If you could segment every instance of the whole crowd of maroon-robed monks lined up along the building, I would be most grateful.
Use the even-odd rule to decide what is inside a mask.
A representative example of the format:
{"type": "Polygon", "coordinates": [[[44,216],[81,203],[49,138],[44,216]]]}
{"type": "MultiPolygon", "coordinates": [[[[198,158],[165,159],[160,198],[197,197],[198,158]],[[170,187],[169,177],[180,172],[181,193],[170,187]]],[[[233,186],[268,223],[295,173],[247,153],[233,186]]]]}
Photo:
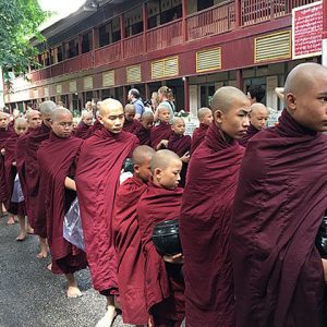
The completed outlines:
{"type": "Polygon", "coordinates": [[[124,108],[89,106],[77,126],[52,101],[12,121],[0,112],[0,208],[8,223],[19,218],[17,241],[34,233],[37,257],[50,251],[69,298],[89,268],[107,299],[97,327],[120,311],[136,326],[326,326],[315,240],[327,208],[327,69],[289,73],[274,128],[263,96],[220,87],[192,137],[166,86],[148,108],[137,89],[124,108]],[[63,237],[76,198],[83,246],[63,237]],[[181,251],[160,253],[154,228],[173,220],[181,251]]]}

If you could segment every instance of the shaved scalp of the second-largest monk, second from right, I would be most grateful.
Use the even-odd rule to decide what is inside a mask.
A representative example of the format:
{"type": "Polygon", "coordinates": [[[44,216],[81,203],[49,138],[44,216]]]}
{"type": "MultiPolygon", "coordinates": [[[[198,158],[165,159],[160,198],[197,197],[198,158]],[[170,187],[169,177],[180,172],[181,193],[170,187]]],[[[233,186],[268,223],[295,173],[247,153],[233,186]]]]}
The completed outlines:
{"type": "Polygon", "coordinates": [[[235,101],[242,102],[246,100],[247,97],[241,89],[233,86],[220,87],[216,90],[213,97],[213,113],[215,113],[217,110],[227,112],[234,106],[235,101]]]}

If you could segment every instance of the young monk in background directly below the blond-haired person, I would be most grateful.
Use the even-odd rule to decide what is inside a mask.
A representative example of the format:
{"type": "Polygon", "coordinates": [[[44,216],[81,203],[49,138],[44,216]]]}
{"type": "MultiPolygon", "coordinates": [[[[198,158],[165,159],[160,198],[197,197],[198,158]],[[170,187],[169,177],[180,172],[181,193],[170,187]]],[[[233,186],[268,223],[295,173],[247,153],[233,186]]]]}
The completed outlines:
{"type": "Polygon", "coordinates": [[[157,111],[160,123],[153,128],[150,133],[152,147],[156,150],[165,148],[167,146],[168,138],[172,134],[169,109],[166,106],[159,105],[157,111]]]}

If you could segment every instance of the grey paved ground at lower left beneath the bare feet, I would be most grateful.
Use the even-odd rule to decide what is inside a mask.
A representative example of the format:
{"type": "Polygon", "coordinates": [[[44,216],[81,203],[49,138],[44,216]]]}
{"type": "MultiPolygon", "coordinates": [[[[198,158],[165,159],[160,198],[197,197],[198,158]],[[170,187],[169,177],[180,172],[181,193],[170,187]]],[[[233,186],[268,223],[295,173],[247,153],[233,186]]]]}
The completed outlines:
{"type": "MultiPolygon", "coordinates": [[[[83,296],[65,298],[64,278],[38,261],[36,237],[16,242],[19,227],[0,219],[0,327],[94,327],[105,313],[106,301],[90,284],[88,270],[77,275],[83,296]]],[[[123,325],[121,316],[114,322],[123,325]]]]}

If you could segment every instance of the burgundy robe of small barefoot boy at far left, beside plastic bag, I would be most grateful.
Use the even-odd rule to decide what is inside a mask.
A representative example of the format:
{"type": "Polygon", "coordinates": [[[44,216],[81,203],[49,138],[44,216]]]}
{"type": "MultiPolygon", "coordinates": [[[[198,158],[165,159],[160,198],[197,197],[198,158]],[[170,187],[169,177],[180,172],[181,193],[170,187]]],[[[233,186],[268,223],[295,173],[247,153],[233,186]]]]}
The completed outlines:
{"type": "Polygon", "coordinates": [[[16,166],[13,166],[12,164],[16,161],[15,149],[16,149],[16,142],[19,137],[20,136],[16,133],[14,133],[4,143],[4,149],[5,149],[4,171],[5,171],[5,183],[8,187],[8,198],[4,203],[4,206],[8,213],[10,214],[25,216],[26,215],[25,202],[24,201],[20,203],[11,202],[11,197],[14,189],[14,181],[17,174],[16,166]]]}

